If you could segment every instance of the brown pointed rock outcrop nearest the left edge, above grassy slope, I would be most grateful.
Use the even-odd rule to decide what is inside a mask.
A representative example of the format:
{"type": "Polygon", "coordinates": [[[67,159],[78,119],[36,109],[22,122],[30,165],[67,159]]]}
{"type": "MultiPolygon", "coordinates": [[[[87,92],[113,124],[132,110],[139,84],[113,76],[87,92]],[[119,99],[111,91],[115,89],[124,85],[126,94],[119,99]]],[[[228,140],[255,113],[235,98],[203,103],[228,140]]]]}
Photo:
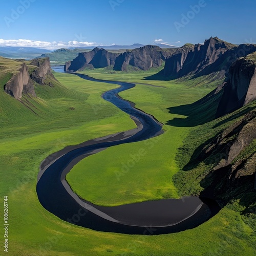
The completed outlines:
{"type": "Polygon", "coordinates": [[[28,66],[23,63],[17,73],[14,73],[12,78],[6,83],[4,90],[6,93],[19,99],[22,93],[30,93],[36,97],[33,82],[29,77],[28,66]]]}

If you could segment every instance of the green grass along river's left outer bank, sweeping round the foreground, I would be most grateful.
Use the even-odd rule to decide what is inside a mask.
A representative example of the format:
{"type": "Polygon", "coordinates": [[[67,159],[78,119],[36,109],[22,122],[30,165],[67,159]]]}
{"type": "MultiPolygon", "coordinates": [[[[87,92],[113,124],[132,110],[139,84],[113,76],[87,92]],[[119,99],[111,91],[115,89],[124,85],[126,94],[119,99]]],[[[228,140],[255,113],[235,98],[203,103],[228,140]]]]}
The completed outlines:
{"type": "MultiPolygon", "coordinates": [[[[114,133],[123,127],[127,130],[134,126],[131,120],[119,111],[115,112],[114,106],[102,102],[99,97],[99,91],[105,90],[106,86],[108,90],[114,86],[87,82],[90,87],[85,88],[84,81],[72,75],[57,74],[56,77],[65,86],[78,91],[78,98],[84,96],[84,102],[75,100],[73,97],[69,98],[68,95],[62,99],[56,99],[57,102],[49,96],[43,101],[45,105],[40,104],[42,109],[39,117],[30,115],[30,118],[23,121],[22,117],[29,116],[30,110],[22,108],[18,105],[19,102],[14,101],[10,96],[0,94],[3,97],[9,97],[6,98],[9,108],[7,105],[3,107],[1,104],[1,113],[7,115],[8,110],[12,110],[13,118],[19,118],[18,125],[15,119],[8,124],[1,124],[4,128],[1,129],[1,138],[5,141],[1,140],[0,170],[4,182],[2,182],[0,191],[2,197],[9,196],[10,255],[253,254],[255,240],[252,237],[252,230],[244,224],[237,212],[227,208],[222,209],[220,214],[198,228],[157,237],[103,233],[76,227],[60,221],[42,208],[35,193],[36,174],[42,159],[67,144],[79,143],[93,137],[114,133]],[[71,101],[69,102],[69,100],[71,101]],[[75,103],[75,110],[69,110],[70,106],[74,106],[75,103]],[[97,113],[101,113],[102,106],[103,110],[112,109],[95,115],[93,111],[95,104],[97,113]],[[54,111],[48,114],[46,110],[50,111],[52,108],[54,111]],[[16,116],[14,116],[15,112],[16,116]],[[77,113],[73,114],[73,112],[77,113]],[[106,113],[109,114],[109,117],[101,116],[106,113]],[[67,118],[69,122],[66,121],[67,118]],[[123,124],[123,126],[120,127],[118,124],[123,124]],[[6,136],[10,136],[10,138],[6,138],[6,136]],[[12,143],[11,146],[9,143],[12,143]]],[[[125,78],[127,77],[123,77],[123,79],[125,78]]],[[[134,80],[136,79],[138,77],[134,78],[134,80]]],[[[156,83],[162,84],[161,82],[156,83]]],[[[144,87],[137,87],[137,89],[143,92],[147,90],[147,95],[152,96],[151,89],[144,87]]],[[[69,92],[71,93],[71,91],[69,92]]],[[[136,97],[136,95],[132,95],[133,93],[136,93],[136,90],[127,92],[126,96],[136,97]]],[[[200,92],[199,95],[201,93],[204,94],[200,92]]],[[[39,95],[38,91],[37,94],[39,95]]],[[[123,97],[125,94],[123,93],[123,97]]],[[[145,111],[154,110],[148,103],[144,102],[144,106],[140,105],[141,98],[138,96],[133,100],[145,111]]],[[[176,104],[178,105],[180,102],[178,101],[176,104]]],[[[165,110],[156,112],[158,112],[158,114],[156,113],[157,118],[165,115],[166,118],[168,115],[165,110]],[[163,113],[165,114],[163,115],[163,113]]],[[[2,209],[0,213],[3,214],[2,209]]]]}

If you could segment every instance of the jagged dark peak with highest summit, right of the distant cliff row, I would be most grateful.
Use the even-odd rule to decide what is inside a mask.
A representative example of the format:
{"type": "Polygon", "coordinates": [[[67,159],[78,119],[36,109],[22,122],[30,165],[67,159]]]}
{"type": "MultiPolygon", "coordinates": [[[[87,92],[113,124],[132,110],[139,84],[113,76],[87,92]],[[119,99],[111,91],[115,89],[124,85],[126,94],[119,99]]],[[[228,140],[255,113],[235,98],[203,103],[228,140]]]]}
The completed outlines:
{"type": "Polygon", "coordinates": [[[196,74],[214,63],[227,50],[234,47],[218,37],[210,37],[203,45],[185,45],[166,58],[164,75],[173,78],[196,74]]]}

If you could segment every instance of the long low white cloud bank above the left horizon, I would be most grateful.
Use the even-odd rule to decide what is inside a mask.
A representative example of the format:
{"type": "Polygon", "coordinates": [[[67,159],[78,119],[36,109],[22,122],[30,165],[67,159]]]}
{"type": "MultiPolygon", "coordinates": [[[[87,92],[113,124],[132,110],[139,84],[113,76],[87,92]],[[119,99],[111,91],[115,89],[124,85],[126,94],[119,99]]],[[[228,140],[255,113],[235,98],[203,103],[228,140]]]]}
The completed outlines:
{"type": "Polygon", "coordinates": [[[69,47],[81,47],[81,46],[98,46],[96,42],[79,42],[79,41],[36,41],[28,39],[0,39],[0,46],[12,46],[12,47],[35,47],[48,50],[55,50],[58,48],[69,48],[69,47]]]}

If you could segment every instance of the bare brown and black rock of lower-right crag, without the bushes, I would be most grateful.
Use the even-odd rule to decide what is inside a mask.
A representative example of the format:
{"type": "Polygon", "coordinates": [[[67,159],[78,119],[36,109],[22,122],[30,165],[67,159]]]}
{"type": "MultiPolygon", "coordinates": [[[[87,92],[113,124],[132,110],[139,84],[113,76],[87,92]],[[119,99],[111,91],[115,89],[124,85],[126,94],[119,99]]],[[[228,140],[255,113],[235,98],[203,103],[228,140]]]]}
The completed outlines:
{"type": "Polygon", "coordinates": [[[230,200],[256,190],[255,139],[256,111],[252,110],[204,147],[201,160],[214,166],[203,182],[211,181],[206,193],[214,191],[215,196],[230,200]]]}

